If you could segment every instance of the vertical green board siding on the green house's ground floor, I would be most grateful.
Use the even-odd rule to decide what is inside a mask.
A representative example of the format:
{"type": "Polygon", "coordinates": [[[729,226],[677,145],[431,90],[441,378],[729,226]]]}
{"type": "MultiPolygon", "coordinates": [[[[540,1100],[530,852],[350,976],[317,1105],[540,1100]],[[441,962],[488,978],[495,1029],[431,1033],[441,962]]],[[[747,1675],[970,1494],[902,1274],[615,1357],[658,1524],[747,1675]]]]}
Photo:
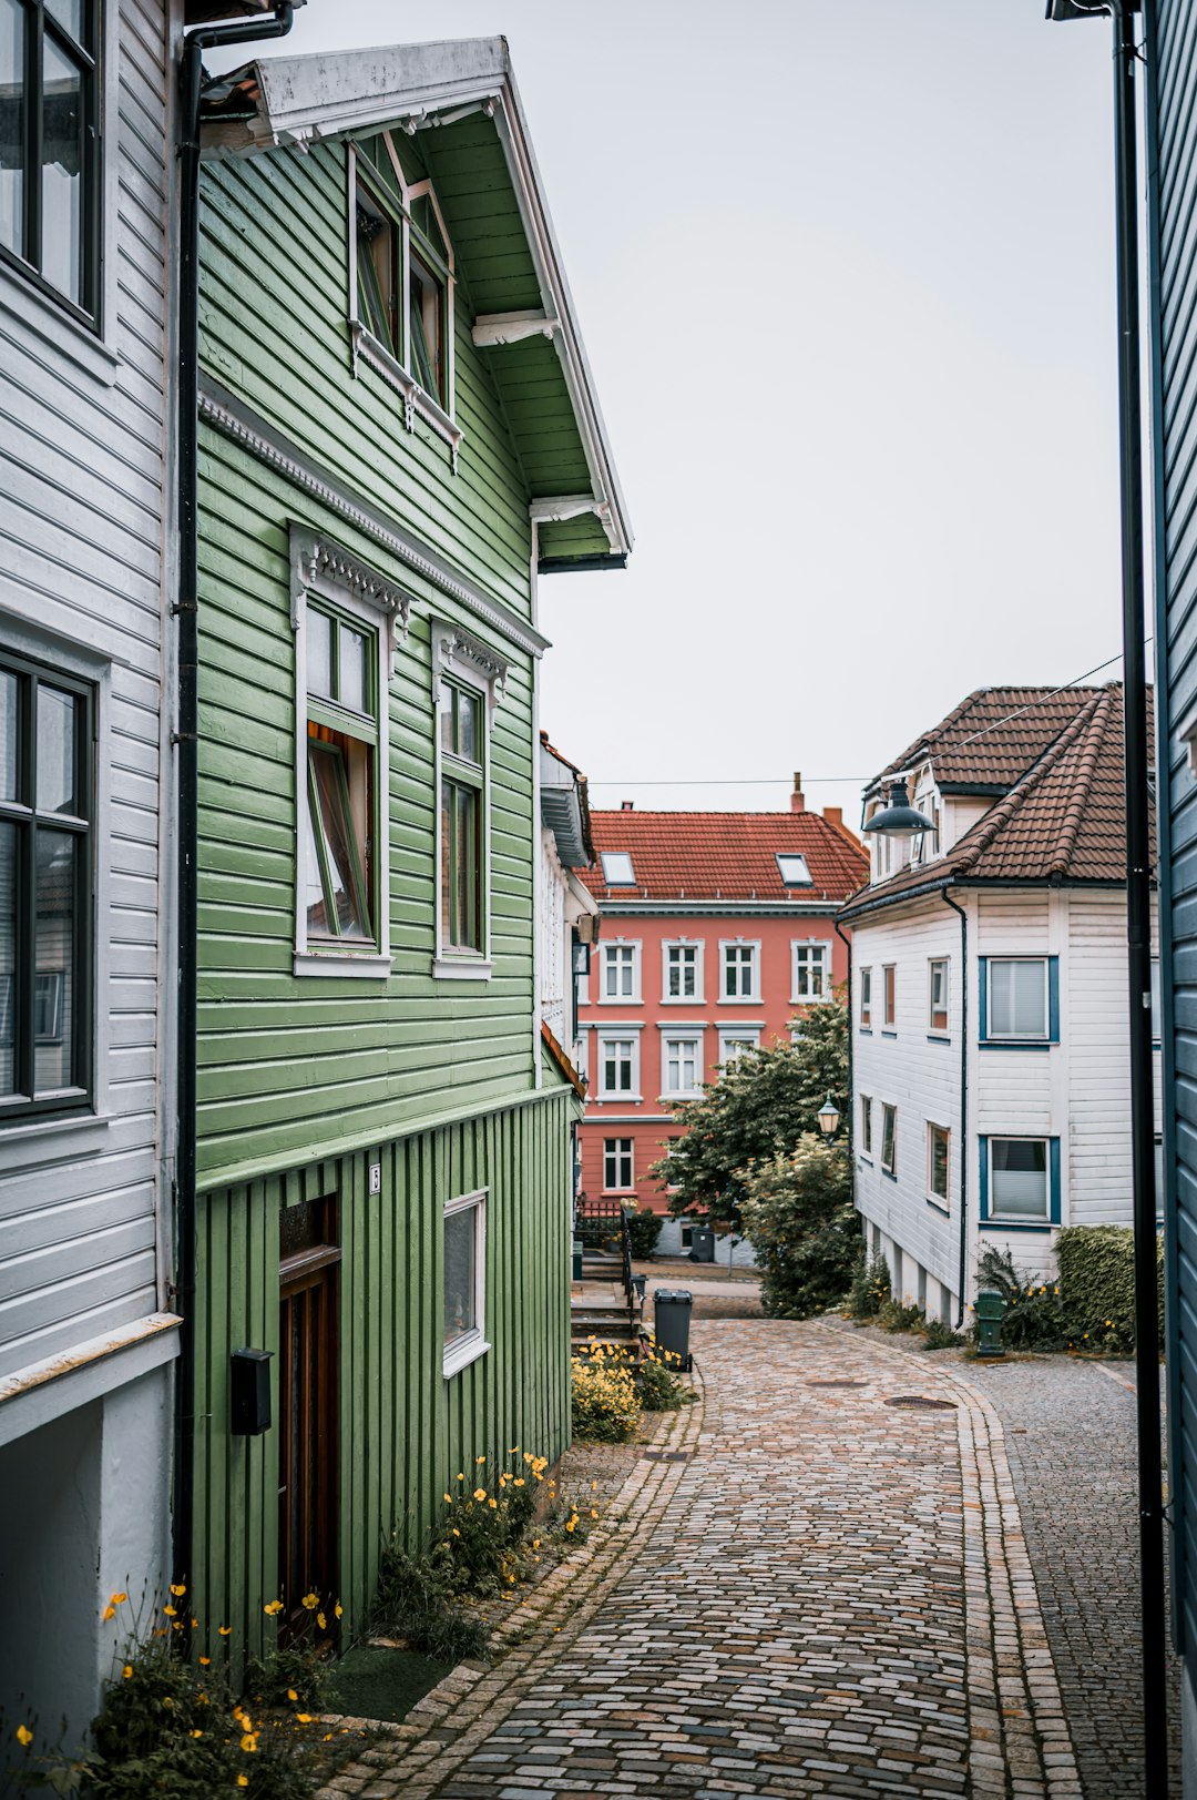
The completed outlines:
{"type": "Polygon", "coordinates": [[[473,1458],[569,1442],[571,1224],[567,1089],[437,1132],[209,1193],[200,1202],[194,1598],[261,1649],[277,1593],[279,1213],[340,1201],[338,1595],[360,1631],[394,1525],[419,1544],[473,1458]],[[382,1165],[371,1195],[369,1165],[382,1165]],[[488,1190],[490,1352],[441,1375],[441,1213],[488,1190]],[[229,1357],[272,1350],[275,1429],[230,1436],[229,1357]]]}

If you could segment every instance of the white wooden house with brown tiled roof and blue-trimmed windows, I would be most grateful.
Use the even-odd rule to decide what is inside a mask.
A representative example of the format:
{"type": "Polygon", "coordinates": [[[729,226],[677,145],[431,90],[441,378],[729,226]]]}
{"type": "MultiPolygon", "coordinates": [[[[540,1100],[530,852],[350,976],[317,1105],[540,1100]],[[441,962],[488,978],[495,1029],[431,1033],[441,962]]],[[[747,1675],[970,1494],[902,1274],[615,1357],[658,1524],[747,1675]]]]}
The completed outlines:
{"type": "Polygon", "coordinates": [[[1048,1278],[1130,1222],[1121,689],[986,688],[866,790],[851,925],[855,1197],[895,1296],[959,1323],[983,1246],[1048,1278]]]}

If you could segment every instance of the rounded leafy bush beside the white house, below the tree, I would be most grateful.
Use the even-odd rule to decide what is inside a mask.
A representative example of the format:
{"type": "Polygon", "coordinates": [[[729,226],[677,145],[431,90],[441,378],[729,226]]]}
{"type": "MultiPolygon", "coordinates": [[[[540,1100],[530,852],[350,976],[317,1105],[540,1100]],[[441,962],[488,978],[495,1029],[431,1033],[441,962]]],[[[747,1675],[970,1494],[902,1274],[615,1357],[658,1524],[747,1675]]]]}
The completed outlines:
{"type": "Polygon", "coordinates": [[[810,1319],[848,1292],[860,1251],[846,1145],[805,1132],[796,1148],[745,1172],[743,1228],[774,1319],[810,1319]]]}

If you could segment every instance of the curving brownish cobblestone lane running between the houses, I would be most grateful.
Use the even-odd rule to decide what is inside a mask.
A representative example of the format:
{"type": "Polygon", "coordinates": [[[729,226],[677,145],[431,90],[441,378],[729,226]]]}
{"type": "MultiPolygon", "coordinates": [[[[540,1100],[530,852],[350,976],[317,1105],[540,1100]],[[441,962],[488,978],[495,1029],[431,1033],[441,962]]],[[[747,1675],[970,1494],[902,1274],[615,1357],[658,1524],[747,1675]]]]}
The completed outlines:
{"type": "Polygon", "coordinates": [[[328,1793],[1078,1800],[988,1404],[823,1325],[698,1321],[695,1352],[702,1413],[513,1609],[495,1665],[328,1793]]]}

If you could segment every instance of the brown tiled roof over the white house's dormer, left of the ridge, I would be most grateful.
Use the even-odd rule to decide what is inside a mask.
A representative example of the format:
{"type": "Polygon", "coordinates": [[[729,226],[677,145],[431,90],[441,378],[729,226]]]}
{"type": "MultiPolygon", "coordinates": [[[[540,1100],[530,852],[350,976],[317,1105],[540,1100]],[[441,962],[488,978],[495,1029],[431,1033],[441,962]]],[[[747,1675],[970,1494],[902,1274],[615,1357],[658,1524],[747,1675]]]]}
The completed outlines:
{"type": "Polygon", "coordinates": [[[866,788],[931,761],[941,794],[1001,794],[1026,774],[1102,688],[977,688],[914,738],[866,788]]]}

